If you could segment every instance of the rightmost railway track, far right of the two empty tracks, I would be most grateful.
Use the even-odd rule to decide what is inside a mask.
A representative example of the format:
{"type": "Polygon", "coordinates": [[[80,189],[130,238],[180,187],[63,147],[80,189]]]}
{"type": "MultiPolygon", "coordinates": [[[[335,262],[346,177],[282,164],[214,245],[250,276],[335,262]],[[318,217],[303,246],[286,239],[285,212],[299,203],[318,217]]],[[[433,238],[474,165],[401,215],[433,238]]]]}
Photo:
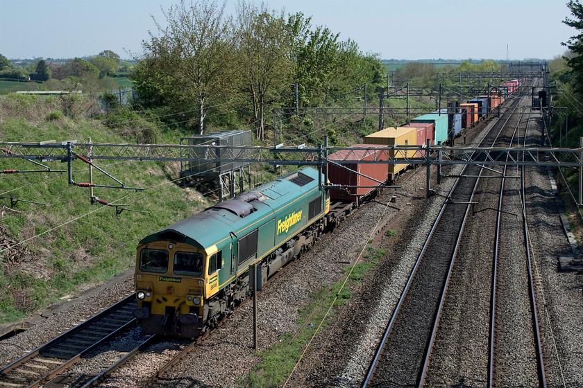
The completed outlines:
{"type": "MultiPolygon", "coordinates": [[[[528,118],[530,115],[525,125],[523,146],[527,141],[528,118]]],[[[518,125],[516,133],[519,133],[518,125]]],[[[507,175],[507,167],[504,168],[503,175],[507,175]]],[[[502,178],[495,247],[487,385],[502,387],[518,384],[546,387],[526,217],[523,166],[520,168],[520,182],[508,184],[506,179],[502,178]],[[514,193],[519,195],[512,195],[514,193]],[[509,218],[509,214],[513,212],[517,213],[515,219],[509,218]],[[517,255],[515,249],[509,254],[507,252],[509,249],[505,247],[512,243],[516,245],[520,243],[523,252],[517,255]],[[517,301],[519,303],[516,303],[517,301]],[[514,344],[515,349],[508,351],[505,346],[507,343],[514,344]],[[518,349],[519,347],[522,349],[518,349]],[[508,360],[512,360],[513,364],[518,362],[521,367],[509,368],[508,360]]]]}

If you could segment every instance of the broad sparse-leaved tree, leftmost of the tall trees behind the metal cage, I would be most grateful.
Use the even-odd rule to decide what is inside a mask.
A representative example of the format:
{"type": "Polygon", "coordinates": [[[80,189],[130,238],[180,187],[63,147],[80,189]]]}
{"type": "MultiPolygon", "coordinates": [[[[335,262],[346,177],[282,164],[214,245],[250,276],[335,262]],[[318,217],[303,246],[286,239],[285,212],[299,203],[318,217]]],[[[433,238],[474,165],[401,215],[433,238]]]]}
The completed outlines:
{"type": "Polygon", "coordinates": [[[162,10],[168,26],[162,28],[154,19],[159,35],[150,32],[150,40],[142,43],[144,58],[137,58],[142,86],[157,84],[149,89],[164,92],[163,98],[179,111],[196,109],[199,134],[210,103],[226,98],[232,88],[233,47],[228,21],[223,19],[225,6],[214,0],[181,0],[162,10]],[[143,76],[151,78],[146,82],[143,76]]]}

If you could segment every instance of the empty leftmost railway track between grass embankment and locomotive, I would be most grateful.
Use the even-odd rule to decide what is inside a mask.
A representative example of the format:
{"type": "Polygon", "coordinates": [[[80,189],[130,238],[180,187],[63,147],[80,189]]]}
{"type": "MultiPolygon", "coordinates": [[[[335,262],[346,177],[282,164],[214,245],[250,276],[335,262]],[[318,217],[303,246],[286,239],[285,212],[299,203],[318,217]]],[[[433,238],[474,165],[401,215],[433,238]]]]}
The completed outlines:
{"type": "MultiPolygon", "coordinates": [[[[135,296],[122,299],[0,369],[0,387],[40,387],[135,323],[135,296]]],[[[55,385],[53,385],[55,386],[55,385]]]]}

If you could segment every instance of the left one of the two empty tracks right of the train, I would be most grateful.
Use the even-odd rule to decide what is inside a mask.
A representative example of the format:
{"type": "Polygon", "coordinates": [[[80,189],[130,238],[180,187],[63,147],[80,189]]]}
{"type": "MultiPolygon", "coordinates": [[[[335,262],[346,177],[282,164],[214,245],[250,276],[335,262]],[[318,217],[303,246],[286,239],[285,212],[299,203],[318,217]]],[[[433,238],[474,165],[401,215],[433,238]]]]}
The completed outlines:
{"type": "MultiPolygon", "coordinates": [[[[493,145],[509,118],[506,114],[505,121],[494,125],[481,144],[493,145]]],[[[465,178],[458,178],[448,194],[363,387],[423,385],[445,290],[481,170],[478,166],[466,166],[462,171],[465,178]]]]}

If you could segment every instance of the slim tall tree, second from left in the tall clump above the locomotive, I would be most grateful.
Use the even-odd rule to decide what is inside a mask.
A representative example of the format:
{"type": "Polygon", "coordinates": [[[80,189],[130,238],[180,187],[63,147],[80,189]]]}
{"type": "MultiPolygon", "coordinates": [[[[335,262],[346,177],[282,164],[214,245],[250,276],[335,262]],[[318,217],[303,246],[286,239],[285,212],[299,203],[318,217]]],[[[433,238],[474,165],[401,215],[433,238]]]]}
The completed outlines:
{"type": "Polygon", "coordinates": [[[244,89],[253,101],[257,139],[264,139],[265,113],[270,93],[290,82],[293,64],[291,45],[283,12],[276,14],[264,4],[252,8],[237,4],[237,48],[242,65],[244,89]]]}

